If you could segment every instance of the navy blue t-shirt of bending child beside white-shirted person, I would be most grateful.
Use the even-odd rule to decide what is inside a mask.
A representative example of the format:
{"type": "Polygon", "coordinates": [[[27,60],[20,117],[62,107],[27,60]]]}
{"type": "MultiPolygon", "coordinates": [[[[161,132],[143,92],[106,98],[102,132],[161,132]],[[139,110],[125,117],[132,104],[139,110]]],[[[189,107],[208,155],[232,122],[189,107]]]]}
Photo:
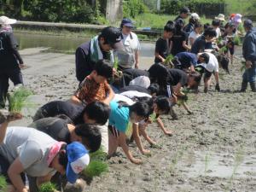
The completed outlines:
{"type": "Polygon", "coordinates": [[[188,68],[191,66],[191,64],[193,66],[196,66],[197,64],[197,56],[194,53],[180,52],[175,56],[182,63],[183,68],[188,68]]]}

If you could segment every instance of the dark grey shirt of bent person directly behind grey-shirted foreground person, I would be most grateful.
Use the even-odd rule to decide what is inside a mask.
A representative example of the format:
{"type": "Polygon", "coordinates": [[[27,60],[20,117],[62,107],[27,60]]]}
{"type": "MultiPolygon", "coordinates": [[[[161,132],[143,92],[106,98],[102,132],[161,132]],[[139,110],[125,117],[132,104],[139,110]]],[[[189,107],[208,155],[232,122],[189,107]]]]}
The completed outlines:
{"type": "Polygon", "coordinates": [[[67,121],[60,118],[44,118],[32,122],[28,127],[42,131],[53,137],[56,141],[70,143],[70,132],[67,128],[67,121]]]}

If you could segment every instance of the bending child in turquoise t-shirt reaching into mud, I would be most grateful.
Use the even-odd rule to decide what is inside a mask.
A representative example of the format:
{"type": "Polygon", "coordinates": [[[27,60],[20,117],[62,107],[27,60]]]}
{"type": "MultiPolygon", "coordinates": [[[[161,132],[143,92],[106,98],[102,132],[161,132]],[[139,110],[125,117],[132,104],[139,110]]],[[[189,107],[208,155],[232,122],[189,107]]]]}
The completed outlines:
{"type": "Polygon", "coordinates": [[[148,118],[151,108],[143,102],[136,102],[131,106],[123,105],[118,102],[110,102],[111,113],[109,116],[109,147],[108,155],[111,157],[118,146],[123,148],[126,157],[132,163],[141,164],[142,160],[132,156],[127,144],[125,132],[129,129],[131,123],[137,123],[148,118]]]}

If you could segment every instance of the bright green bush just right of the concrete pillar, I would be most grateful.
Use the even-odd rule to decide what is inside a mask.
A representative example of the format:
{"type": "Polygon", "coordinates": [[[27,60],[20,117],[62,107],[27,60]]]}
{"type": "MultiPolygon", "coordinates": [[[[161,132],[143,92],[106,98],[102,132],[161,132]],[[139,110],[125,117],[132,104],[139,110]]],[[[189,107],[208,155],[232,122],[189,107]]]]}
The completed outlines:
{"type": "Polygon", "coordinates": [[[143,3],[143,0],[124,0],[123,2],[123,15],[124,17],[135,18],[148,12],[148,7],[143,3]]]}

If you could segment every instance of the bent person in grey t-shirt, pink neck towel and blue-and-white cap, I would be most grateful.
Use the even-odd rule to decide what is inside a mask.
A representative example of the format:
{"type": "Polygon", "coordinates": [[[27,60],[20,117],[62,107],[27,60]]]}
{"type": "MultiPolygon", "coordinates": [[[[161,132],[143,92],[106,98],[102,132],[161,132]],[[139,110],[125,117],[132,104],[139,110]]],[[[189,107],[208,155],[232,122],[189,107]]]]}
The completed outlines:
{"type": "Polygon", "coordinates": [[[38,177],[38,186],[48,182],[55,171],[62,175],[66,173],[67,181],[75,183],[79,172],[89,164],[88,149],[78,142],[55,141],[32,128],[8,127],[10,121],[21,117],[15,113],[6,119],[0,118],[3,119],[0,122],[0,174],[9,177],[9,191],[29,191],[24,173],[38,177]]]}

